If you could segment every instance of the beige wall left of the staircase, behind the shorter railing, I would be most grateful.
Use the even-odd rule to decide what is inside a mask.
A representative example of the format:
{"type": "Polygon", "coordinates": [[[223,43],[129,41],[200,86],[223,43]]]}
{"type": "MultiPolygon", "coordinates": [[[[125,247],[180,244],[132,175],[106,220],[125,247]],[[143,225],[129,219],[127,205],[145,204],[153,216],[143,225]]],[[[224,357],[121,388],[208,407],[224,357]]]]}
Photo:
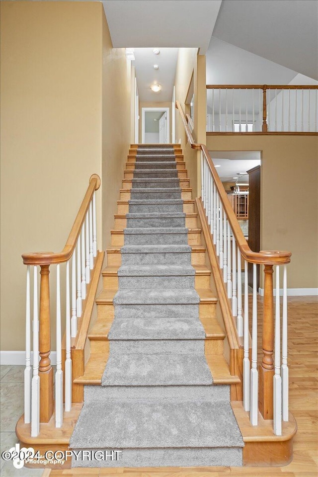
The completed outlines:
{"type": "MultiPolygon", "coordinates": [[[[129,111],[130,77],[124,52],[111,50],[100,2],[1,1],[0,7],[1,349],[23,350],[21,253],[63,248],[92,173],[103,180],[99,223],[101,199],[111,197],[98,246],[109,242],[117,168],[130,139],[129,115],[128,125],[121,117],[129,111]],[[105,90],[109,102],[102,101],[105,90]]],[[[52,270],[52,299],[54,288],[52,270]]]]}

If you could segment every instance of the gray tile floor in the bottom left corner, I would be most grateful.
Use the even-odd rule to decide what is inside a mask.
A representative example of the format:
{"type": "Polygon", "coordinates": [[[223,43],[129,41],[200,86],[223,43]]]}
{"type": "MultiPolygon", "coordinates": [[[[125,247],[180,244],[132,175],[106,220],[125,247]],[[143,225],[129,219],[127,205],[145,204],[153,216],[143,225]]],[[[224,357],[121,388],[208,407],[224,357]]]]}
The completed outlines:
{"type": "MultiPolygon", "coordinates": [[[[0,454],[17,443],[15,424],[23,413],[24,366],[0,366],[0,454]]],[[[43,469],[15,469],[1,458],[1,477],[38,477],[43,469]]]]}

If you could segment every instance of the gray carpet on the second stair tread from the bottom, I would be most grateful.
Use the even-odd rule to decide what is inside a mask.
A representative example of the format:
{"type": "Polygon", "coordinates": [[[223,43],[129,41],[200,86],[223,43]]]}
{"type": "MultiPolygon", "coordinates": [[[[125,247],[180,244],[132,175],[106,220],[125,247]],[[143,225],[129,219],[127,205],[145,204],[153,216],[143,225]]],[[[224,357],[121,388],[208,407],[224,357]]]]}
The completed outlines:
{"type": "Polygon", "coordinates": [[[109,356],[102,386],[207,386],[212,376],[200,355],[121,354],[109,356]]]}

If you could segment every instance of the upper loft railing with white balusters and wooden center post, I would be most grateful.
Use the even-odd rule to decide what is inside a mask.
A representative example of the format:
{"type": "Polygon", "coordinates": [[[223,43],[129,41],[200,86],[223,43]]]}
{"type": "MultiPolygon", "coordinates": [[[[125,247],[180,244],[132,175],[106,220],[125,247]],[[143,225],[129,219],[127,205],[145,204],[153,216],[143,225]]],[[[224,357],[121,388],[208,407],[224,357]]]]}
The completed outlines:
{"type": "Polygon", "coordinates": [[[207,132],[318,132],[318,86],[207,84],[207,132]]]}

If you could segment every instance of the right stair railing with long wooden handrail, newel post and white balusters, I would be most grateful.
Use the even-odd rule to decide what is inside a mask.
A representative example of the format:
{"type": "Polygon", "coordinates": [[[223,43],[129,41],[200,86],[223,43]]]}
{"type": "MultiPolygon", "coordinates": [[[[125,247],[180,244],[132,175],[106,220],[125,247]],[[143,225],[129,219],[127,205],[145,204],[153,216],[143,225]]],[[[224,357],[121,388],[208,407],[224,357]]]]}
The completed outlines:
{"type": "Polygon", "coordinates": [[[258,410],[264,419],[273,419],[276,435],[282,434],[282,420],[288,421],[287,365],[287,267],[291,252],[266,250],[253,252],[243,236],[239,222],[214,167],[207,147],[195,144],[180,103],[176,101],[181,120],[192,149],[201,151],[201,200],[211,232],[220,272],[231,301],[232,316],[239,337],[243,340],[243,407],[249,411],[253,426],[258,423],[258,410]],[[249,359],[249,303],[247,266],[252,264],[252,349],[249,359]],[[244,281],[242,282],[242,264],[244,281]],[[257,370],[257,287],[256,265],[264,266],[264,299],[262,329],[262,362],[257,370]],[[273,288],[275,267],[276,283],[273,288]],[[283,289],[280,289],[280,267],[283,268],[283,289]],[[275,294],[275,323],[274,323],[275,294]],[[282,340],[280,335],[282,304],[282,340]],[[282,344],[281,344],[282,342],[282,344]],[[282,352],[281,352],[282,349],[282,352]],[[275,350],[275,354],[274,354],[275,350]],[[273,359],[275,356],[275,361],[273,359]],[[259,380],[259,391],[258,391],[259,380]]]}

